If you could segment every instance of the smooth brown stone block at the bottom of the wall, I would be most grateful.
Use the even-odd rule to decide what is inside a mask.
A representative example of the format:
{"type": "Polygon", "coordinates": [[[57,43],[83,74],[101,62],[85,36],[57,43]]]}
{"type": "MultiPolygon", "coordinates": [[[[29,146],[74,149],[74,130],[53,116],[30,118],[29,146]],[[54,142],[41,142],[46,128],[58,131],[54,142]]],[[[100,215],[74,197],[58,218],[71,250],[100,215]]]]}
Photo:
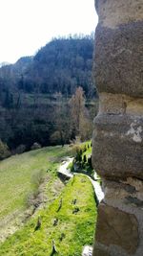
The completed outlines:
{"type": "Polygon", "coordinates": [[[129,254],[135,253],[139,237],[138,222],[133,215],[112,206],[100,204],[97,230],[97,242],[107,246],[115,244],[124,248],[129,254]]]}

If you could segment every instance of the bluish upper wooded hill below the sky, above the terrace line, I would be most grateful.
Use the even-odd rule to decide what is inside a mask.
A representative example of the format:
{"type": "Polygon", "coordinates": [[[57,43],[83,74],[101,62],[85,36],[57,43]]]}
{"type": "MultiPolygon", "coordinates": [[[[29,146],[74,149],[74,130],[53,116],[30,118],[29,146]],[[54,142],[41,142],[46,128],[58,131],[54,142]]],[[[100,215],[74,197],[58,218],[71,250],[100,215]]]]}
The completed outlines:
{"type": "Polygon", "coordinates": [[[55,38],[34,57],[1,67],[0,89],[70,96],[82,86],[86,96],[92,98],[92,53],[92,35],[55,38]]]}

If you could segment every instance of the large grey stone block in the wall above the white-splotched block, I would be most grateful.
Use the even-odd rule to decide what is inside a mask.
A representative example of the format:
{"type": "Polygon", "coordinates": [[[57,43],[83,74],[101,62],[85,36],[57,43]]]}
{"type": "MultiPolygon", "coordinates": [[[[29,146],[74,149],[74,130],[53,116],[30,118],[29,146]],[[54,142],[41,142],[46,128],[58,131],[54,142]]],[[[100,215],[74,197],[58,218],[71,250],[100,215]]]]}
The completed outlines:
{"type": "Polygon", "coordinates": [[[93,74],[99,92],[143,97],[142,27],[140,21],[96,28],[93,74]]]}

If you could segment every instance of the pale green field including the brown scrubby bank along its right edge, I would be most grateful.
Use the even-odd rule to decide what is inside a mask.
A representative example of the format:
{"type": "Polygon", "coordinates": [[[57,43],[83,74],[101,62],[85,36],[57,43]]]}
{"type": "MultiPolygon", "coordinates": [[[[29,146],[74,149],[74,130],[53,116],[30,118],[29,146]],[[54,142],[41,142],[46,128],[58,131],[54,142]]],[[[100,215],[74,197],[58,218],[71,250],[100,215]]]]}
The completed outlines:
{"type": "Polygon", "coordinates": [[[29,219],[43,200],[56,198],[63,188],[56,169],[70,151],[69,147],[48,147],[0,162],[0,241],[29,219]]]}

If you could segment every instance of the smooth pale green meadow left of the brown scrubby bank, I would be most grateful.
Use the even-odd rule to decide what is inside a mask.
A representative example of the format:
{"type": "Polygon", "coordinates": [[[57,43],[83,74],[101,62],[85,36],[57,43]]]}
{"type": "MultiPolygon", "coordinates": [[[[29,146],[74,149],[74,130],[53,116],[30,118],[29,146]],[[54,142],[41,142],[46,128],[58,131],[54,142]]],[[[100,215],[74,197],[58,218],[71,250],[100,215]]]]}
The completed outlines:
{"type": "Polygon", "coordinates": [[[10,228],[18,224],[17,217],[27,208],[27,198],[35,192],[36,177],[42,174],[52,179],[61,157],[69,151],[68,147],[48,147],[0,162],[0,239],[9,222],[10,228]]]}

